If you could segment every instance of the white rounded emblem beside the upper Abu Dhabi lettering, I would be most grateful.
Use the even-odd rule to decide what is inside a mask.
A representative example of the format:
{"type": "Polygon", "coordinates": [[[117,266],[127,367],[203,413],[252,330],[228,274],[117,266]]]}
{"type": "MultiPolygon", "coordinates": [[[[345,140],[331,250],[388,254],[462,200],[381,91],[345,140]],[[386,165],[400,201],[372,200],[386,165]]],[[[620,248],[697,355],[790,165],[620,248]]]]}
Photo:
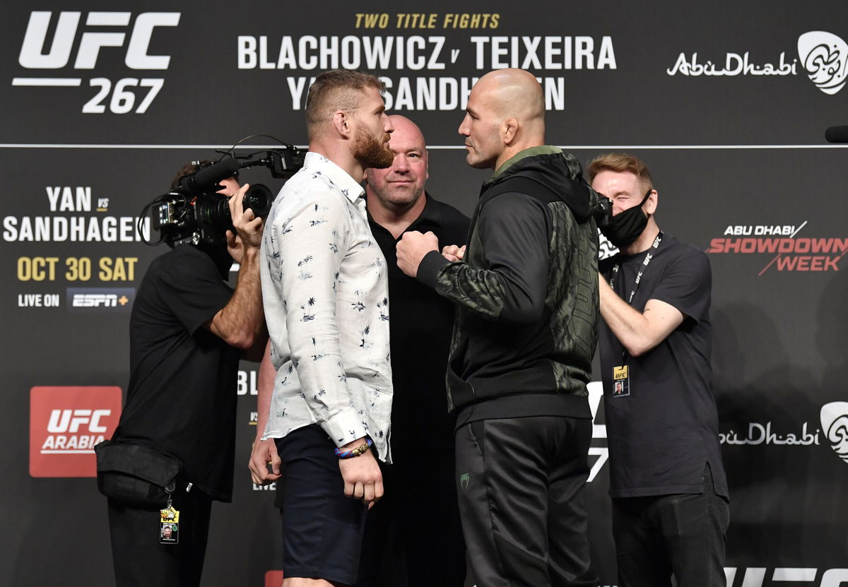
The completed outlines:
{"type": "Polygon", "coordinates": [[[827,31],[810,31],[798,37],[798,57],[810,81],[833,96],[848,78],[848,43],[827,31]]]}

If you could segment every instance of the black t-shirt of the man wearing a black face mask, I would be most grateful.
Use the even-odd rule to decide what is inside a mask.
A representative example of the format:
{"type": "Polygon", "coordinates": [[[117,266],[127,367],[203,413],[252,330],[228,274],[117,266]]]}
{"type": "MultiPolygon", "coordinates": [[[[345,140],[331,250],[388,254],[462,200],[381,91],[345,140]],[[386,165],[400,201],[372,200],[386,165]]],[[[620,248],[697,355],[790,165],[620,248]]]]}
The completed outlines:
{"type": "Polygon", "coordinates": [[[605,322],[600,328],[606,431],[610,446],[610,494],[639,497],[700,493],[710,464],[716,492],[728,495],[718,442],[718,414],[711,391],[711,269],[700,249],[665,235],[659,249],[600,262],[613,289],[627,300],[646,254],[652,259],[639,280],[633,309],[658,299],[683,313],[683,322],[654,349],[627,355],[628,388],[616,393],[614,366],[624,347],[605,322]]]}

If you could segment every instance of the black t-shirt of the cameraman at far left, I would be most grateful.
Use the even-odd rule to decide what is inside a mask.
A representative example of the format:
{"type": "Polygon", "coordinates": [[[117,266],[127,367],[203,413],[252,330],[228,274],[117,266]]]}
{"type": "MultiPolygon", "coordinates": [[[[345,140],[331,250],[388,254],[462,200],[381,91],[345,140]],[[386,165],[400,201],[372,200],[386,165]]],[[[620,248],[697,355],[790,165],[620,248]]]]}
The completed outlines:
{"type": "Polygon", "coordinates": [[[180,245],[151,263],[130,318],[130,384],[114,438],[183,462],[187,481],[232,498],[240,352],[202,325],[232,296],[208,254],[180,245]]]}

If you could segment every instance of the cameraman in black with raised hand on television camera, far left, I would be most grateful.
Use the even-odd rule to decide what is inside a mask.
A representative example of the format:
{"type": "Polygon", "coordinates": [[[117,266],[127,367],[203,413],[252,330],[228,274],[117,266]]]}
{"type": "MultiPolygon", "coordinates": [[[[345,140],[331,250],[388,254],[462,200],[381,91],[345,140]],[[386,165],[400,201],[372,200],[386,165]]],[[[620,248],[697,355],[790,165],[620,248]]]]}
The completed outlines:
{"type": "MultiPolygon", "coordinates": [[[[174,187],[197,171],[198,165],[184,167],[174,187]]],[[[166,238],[172,249],[153,260],[132,307],[130,383],[113,441],[181,461],[172,495],[179,540],[160,542],[165,517],[158,508],[109,499],[119,587],[198,585],[211,502],[232,499],[238,361],[258,360],[267,339],[259,285],[263,220],[242,209],[247,185],[228,178],[216,187],[229,197],[235,234],[227,231],[220,244],[174,246],[166,238]],[[235,290],[224,282],[233,260],[240,265],[235,290]]]]}

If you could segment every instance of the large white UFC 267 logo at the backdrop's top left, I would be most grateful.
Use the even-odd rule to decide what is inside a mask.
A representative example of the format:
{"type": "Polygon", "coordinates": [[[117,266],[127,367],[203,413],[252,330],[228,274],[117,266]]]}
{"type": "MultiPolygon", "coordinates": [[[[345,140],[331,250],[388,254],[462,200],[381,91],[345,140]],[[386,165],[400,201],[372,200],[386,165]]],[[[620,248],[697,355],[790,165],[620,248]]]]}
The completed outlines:
{"type": "MultiPolygon", "coordinates": [[[[27,70],[64,70],[73,59],[74,70],[94,70],[102,50],[125,48],[124,64],[131,70],[167,70],[170,55],[149,54],[153,31],[159,26],[176,26],[180,23],[178,12],[145,12],[132,20],[129,12],[63,11],[58,15],[50,11],[34,10],[26,25],[24,42],[20,47],[18,64],[27,70]],[[81,24],[82,23],[82,24],[81,24]],[[48,31],[53,38],[48,39],[48,31]],[[76,55],[73,55],[75,42],[76,55]]],[[[76,73],[76,71],[75,71],[76,73]]],[[[15,77],[13,86],[19,87],[79,87],[81,77],[37,76],[15,77]]],[[[165,84],[163,78],[108,77],[88,79],[90,87],[99,90],[82,106],[86,114],[109,112],[123,115],[128,112],[147,112],[153,99],[165,84]]]]}

